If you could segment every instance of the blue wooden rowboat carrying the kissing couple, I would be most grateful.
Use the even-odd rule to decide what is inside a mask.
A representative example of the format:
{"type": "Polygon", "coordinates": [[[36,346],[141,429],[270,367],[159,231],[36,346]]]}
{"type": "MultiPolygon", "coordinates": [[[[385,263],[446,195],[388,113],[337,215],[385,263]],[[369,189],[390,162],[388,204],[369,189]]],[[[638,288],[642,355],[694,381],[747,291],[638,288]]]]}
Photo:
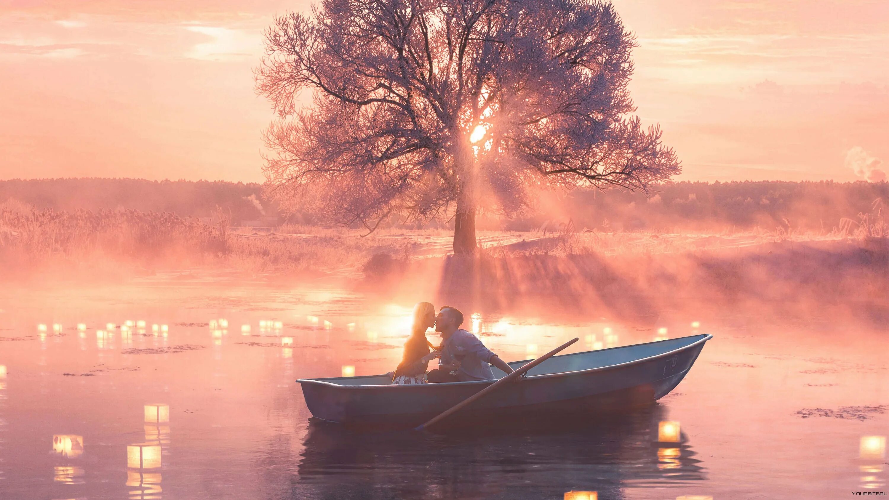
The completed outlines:
{"type": "MultiPolygon", "coordinates": [[[[633,409],[661,399],[692,368],[712,336],[693,335],[557,355],[515,383],[473,401],[453,424],[503,418],[568,419],[633,409]]],[[[512,361],[517,369],[525,361],[512,361]]],[[[492,367],[494,377],[506,374],[492,367]]],[[[300,378],[312,416],[344,425],[418,425],[496,380],[391,385],[386,375],[300,378]]]]}

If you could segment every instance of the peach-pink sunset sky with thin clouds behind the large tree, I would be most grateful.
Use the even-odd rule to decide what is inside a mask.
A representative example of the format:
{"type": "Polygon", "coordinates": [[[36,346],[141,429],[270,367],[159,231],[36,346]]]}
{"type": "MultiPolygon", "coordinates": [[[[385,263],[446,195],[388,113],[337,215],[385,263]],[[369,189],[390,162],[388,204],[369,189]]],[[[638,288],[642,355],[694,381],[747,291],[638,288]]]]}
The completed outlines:
{"type": "MultiPolygon", "coordinates": [[[[677,180],[881,180],[889,2],[614,0],[677,180]]],[[[0,179],[262,181],[262,30],[304,0],[0,0],[0,179]]]]}

